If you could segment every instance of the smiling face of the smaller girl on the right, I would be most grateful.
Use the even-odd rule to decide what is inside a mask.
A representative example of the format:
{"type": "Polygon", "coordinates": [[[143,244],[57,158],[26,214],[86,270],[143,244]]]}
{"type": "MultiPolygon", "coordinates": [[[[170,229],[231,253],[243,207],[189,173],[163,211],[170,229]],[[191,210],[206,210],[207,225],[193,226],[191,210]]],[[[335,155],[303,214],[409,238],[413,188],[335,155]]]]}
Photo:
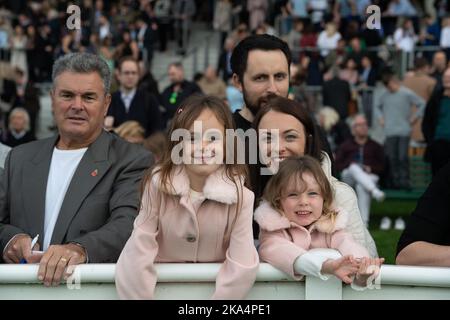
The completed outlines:
{"type": "Polygon", "coordinates": [[[289,180],[281,195],[281,210],[289,221],[309,226],[322,215],[324,200],[320,186],[309,172],[303,173],[301,179],[293,177],[289,180]]]}

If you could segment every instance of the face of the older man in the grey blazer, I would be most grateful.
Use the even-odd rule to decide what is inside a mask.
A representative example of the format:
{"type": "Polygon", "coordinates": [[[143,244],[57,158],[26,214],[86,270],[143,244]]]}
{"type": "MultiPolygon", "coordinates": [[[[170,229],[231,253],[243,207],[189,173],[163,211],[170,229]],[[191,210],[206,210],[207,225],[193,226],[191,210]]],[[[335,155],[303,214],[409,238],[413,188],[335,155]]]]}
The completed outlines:
{"type": "Polygon", "coordinates": [[[101,133],[111,96],[97,72],[63,72],[55,79],[52,110],[62,147],[83,147],[101,133]]]}

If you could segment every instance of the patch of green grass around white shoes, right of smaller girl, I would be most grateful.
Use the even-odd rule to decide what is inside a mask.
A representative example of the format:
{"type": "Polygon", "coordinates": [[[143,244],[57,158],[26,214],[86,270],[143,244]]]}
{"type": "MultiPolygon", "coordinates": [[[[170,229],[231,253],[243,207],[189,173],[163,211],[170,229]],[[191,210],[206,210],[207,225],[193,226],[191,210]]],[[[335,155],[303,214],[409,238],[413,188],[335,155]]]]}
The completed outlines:
{"type": "Polygon", "coordinates": [[[395,264],[395,252],[401,231],[394,230],[395,219],[403,217],[408,222],[408,217],[416,207],[415,200],[386,200],[382,203],[372,201],[370,211],[369,231],[377,244],[378,254],[386,259],[386,264],[395,264]],[[392,220],[392,229],[380,230],[380,221],[388,216],[392,220]]]}

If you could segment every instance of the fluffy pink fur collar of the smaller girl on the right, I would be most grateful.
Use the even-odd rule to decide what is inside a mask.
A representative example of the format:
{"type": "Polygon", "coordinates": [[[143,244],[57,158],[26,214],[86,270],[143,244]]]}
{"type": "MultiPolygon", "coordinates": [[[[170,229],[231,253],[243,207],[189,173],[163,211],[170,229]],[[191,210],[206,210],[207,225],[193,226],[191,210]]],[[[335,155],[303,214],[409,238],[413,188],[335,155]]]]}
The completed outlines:
{"type": "MultiPolygon", "coordinates": [[[[331,221],[331,219],[319,219],[313,223],[310,231],[317,230],[323,233],[334,233],[338,230],[344,229],[347,225],[349,214],[343,208],[337,208],[336,211],[338,214],[334,222],[331,221]]],[[[300,227],[297,224],[290,222],[284,215],[272,208],[267,201],[261,202],[260,206],[255,211],[254,218],[255,221],[258,222],[261,229],[266,231],[300,227]]]]}

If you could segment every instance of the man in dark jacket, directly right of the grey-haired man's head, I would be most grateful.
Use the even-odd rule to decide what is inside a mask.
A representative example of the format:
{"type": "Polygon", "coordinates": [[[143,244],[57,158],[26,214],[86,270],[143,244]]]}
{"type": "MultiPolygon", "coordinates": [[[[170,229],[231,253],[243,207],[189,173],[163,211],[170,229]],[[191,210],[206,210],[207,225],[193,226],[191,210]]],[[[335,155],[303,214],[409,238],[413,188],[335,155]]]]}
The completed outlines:
{"type": "Polygon", "coordinates": [[[139,64],[133,57],[124,57],[119,61],[116,71],[120,89],[111,96],[111,105],[105,119],[106,127],[118,127],[128,120],[135,120],[145,130],[148,137],[164,128],[158,98],[138,89],[139,64]]]}

